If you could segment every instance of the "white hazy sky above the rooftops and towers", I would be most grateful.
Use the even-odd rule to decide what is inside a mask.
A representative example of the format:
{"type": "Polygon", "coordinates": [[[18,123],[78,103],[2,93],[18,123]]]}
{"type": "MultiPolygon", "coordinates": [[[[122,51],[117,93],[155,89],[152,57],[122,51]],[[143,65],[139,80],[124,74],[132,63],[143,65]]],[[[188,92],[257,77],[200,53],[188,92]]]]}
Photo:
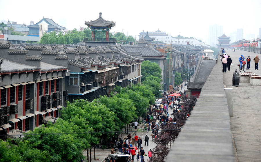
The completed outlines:
{"type": "Polygon", "coordinates": [[[111,31],[137,36],[142,30],[166,31],[172,36],[193,36],[206,40],[209,25],[223,25],[229,35],[244,28],[244,36],[258,35],[261,27],[260,0],[121,0],[121,1],[4,1],[0,0],[0,21],[10,19],[29,25],[41,18],[52,18],[68,29],[86,27],[84,21],[102,17],[116,21],[111,31]]]}

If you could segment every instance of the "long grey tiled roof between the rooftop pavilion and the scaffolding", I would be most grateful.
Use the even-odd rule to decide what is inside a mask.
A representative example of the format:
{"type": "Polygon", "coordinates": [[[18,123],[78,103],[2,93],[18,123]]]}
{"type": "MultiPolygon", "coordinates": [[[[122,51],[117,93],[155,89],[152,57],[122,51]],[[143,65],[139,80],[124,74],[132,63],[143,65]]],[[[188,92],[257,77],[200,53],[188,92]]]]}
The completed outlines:
{"type": "Polygon", "coordinates": [[[160,53],[156,49],[150,46],[120,46],[122,49],[128,52],[141,52],[142,56],[161,57],[164,53],[160,53]]]}

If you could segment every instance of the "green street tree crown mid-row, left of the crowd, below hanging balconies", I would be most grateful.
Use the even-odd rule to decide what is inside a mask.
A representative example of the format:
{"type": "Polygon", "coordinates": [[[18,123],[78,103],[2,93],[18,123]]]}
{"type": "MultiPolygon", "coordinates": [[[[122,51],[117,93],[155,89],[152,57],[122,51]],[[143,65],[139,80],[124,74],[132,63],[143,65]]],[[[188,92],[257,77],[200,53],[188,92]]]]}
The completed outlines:
{"type": "Polygon", "coordinates": [[[101,96],[97,99],[97,102],[106,105],[110,111],[115,113],[116,131],[121,130],[126,124],[132,122],[134,118],[137,118],[133,101],[128,99],[127,96],[124,96],[124,98],[119,96],[119,94],[112,97],[101,96]]]}

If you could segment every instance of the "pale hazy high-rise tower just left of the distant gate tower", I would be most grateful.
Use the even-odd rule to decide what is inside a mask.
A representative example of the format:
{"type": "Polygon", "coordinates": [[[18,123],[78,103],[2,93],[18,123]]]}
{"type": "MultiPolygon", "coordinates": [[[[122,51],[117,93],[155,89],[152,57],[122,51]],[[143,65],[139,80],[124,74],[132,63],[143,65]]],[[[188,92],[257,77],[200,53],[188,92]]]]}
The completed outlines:
{"type": "Polygon", "coordinates": [[[218,44],[218,37],[222,36],[223,33],[223,26],[221,25],[211,25],[209,26],[209,45],[216,46],[218,44]]]}

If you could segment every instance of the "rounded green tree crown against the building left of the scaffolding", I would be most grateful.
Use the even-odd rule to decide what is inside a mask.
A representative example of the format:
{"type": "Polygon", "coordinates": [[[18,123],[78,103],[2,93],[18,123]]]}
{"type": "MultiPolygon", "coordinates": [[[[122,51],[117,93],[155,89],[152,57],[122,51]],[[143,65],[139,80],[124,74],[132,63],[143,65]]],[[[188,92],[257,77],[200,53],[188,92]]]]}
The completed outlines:
{"type": "Polygon", "coordinates": [[[142,65],[141,65],[141,75],[143,75],[142,81],[146,80],[146,77],[149,77],[152,75],[154,77],[158,77],[159,79],[161,79],[161,77],[162,77],[161,71],[162,70],[157,63],[152,63],[148,60],[142,62],[142,65]]]}

